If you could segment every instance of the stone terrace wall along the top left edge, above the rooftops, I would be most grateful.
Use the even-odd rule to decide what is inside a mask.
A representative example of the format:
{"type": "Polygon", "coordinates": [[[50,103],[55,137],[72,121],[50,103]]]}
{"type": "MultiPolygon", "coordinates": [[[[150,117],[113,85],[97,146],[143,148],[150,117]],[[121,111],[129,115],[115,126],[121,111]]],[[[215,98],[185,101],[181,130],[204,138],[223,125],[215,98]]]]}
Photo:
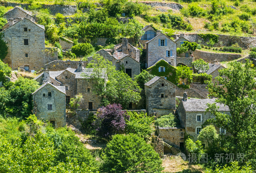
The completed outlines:
{"type": "MultiPolygon", "coordinates": [[[[28,9],[29,5],[31,4],[19,4],[19,3],[9,3],[9,2],[1,2],[2,5],[5,7],[11,6],[20,6],[21,8],[28,9]]],[[[57,13],[63,14],[64,16],[73,15],[77,11],[76,5],[46,5],[42,4],[41,8],[48,8],[52,15],[55,15],[57,13]]]]}

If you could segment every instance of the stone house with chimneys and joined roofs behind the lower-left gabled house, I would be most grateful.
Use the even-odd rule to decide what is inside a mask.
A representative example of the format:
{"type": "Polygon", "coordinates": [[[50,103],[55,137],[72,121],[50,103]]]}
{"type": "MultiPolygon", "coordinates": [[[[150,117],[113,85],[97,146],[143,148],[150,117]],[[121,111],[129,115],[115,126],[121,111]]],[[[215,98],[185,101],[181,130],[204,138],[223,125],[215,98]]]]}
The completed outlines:
{"type": "MultiPolygon", "coordinates": [[[[94,110],[101,107],[101,97],[93,93],[92,74],[93,69],[83,68],[83,61],[79,61],[77,69],[67,68],[61,71],[45,70],[35,77],[34,80],[40,84],[50,82],[55,86],[64,86],[67,104],[75,95],[82,94],[84,100],[79,103],[79,108],[94,110]]],[[[102,74],[102,78],[105,77],[105,74],[102,74]]]]}

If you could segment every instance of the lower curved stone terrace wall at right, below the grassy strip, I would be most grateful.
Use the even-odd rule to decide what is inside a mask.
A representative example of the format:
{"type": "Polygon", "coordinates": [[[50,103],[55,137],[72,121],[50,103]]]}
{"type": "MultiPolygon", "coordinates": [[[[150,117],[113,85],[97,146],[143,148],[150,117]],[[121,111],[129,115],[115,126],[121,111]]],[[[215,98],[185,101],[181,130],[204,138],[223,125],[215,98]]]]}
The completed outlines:
{"type": "Polygon", "coordinates": [[[193,55],[195,60],[203,59],[206,62],[213,62],[215,59],[217,59],[218,62],[232,61],[234,59],[238,59],[242,57],[241,54],[212,53],[212,52],[206,52],[202,50],[194,51],[193,55]]]}

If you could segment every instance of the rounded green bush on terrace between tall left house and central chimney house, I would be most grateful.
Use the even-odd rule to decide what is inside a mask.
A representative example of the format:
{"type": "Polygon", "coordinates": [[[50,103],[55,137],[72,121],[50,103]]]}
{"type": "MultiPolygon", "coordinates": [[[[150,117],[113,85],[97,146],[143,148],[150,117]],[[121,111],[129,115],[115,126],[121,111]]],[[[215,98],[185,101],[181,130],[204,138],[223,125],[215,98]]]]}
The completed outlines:
{"type": "Polygon", "coordinates": [[[72,53],[76,54],[77,57],[85,56],[94,51],[94,47],[90,43],[78,43],[71,47],[72,53]]]}

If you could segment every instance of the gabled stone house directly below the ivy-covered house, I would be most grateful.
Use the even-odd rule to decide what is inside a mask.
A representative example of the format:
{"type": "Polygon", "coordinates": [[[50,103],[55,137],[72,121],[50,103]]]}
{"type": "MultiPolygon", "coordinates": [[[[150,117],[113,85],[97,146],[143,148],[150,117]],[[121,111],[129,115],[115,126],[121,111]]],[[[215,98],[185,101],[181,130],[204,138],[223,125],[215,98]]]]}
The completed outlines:
{"type": "Polygon", "coordinates": [[[158,116],[162,116],[173,112],[176,104],[176,85],[163,77],[155,76],[144,86],[148,115],[152,116],[157,112],[158,116]]]}

